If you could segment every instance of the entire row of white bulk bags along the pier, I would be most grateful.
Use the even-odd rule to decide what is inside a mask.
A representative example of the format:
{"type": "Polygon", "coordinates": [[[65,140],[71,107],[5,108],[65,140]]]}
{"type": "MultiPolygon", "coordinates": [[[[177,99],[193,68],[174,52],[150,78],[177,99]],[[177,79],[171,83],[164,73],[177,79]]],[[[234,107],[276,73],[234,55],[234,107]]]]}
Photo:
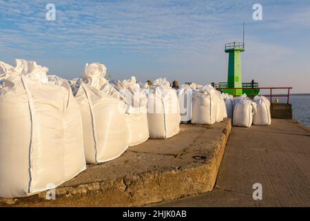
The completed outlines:
{"type": "Polygon", "coordinates": [[[69,81],[34,61],[0,61],[0,198],[53,189],[85,170],[114,160],[128,146],[180,132],[180,122],[270,125],[270,102],[221,94],[211,85],[173,89],[163,78],[107,81],[103,64],[86,64],[69,81]],[[18,136],[18,137],[17,137],[18,136]]]}

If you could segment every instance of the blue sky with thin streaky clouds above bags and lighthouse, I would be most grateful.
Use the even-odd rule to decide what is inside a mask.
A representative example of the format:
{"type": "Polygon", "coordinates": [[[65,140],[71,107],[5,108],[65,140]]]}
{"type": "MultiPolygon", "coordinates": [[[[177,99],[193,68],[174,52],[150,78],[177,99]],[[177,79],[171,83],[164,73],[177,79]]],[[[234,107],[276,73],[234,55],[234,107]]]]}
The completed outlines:
{"type": "Polygon", "coordinates": [[[0,1],[0,60],[34,60],[67,79],[99,61],[114,79],[226,81],[224,45],[242,40],[243,21],[243,81],[310,93],[309,0],[0,1]],[[56,21],[45,19],[48,3],[56,21]]]}

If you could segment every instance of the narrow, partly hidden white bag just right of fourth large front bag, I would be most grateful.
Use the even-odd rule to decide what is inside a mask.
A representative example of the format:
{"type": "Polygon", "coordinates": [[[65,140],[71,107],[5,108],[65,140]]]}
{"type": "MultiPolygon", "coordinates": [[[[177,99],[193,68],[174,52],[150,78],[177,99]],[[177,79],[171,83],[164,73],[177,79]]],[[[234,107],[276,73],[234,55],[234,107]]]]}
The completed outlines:
{"type": "Polygon", "coordinates": [[[192,119],[193,90],[187,84],[178,90],[178,103],[180,104],[180,121],[190,122],[192,119]]]}

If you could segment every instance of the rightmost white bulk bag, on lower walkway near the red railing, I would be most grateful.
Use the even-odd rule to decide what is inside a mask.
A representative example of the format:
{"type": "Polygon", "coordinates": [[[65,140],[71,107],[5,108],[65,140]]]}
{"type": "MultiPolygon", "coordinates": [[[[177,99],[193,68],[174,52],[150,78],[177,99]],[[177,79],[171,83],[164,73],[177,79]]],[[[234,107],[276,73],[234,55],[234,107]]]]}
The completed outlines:
{"type": "Polygon", "coordinates": [[[270,102],[267,97],[255,96],[253,101],[257,104],[257,112],[253,116],[254,125],[271,125],[270,102]]]}

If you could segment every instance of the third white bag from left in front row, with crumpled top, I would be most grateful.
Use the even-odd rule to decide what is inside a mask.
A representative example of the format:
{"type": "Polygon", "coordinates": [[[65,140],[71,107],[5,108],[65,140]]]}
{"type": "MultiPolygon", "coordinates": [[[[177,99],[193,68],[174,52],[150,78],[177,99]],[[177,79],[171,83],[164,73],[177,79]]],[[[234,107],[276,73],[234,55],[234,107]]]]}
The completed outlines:
{"type": "Polygon", "coordinates": [[[128,145],[135,146],[149,139],[147,123],[147,95],[136,83],[136,78],[112,81],[103,90],[121,99],[127,106],[125,125],[127,126],[128,145]],[[112,89],[113,86],[116,90],[112,89]]]}

